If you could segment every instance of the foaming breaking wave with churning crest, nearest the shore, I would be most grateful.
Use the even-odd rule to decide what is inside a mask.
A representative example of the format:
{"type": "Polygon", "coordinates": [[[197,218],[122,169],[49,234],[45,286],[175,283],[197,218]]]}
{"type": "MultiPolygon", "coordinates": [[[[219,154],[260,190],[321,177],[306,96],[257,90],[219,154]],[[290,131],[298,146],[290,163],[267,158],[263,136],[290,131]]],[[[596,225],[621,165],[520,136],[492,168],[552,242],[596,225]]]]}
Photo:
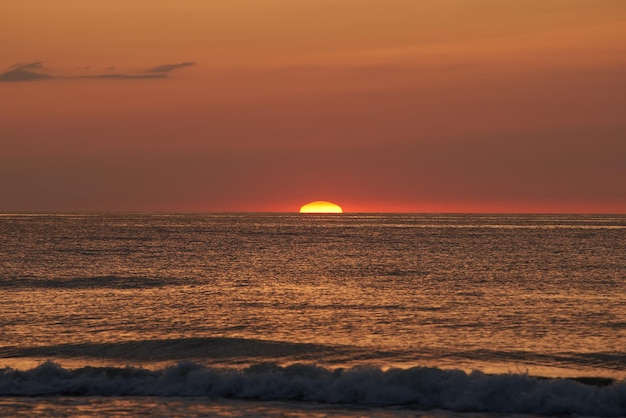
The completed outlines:
{"type": "Polygon", "coordinates": [[[30,370],[1,370],[0,396],[208,396],[458,412],[626,415],[626,381],[589,382],[429,367],[327,369],[261,363],[239,370],[181,362],[161,370],[65,369],[46,362],[30,370]]]}

